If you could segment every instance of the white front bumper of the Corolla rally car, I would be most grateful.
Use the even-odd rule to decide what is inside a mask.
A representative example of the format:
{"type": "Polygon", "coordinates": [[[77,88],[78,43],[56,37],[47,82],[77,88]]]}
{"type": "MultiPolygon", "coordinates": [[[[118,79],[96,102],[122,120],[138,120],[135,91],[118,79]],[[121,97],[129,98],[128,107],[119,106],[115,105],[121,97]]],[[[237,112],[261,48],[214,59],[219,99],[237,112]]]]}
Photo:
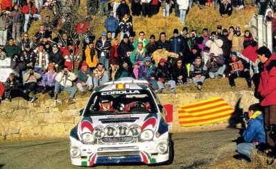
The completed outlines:
{"type": "Polygon", "coordinates": [[[71,163],[76,166],[94,166],[96,164],[112,163],[162,163],[169,160],[169,151],[163,154],[157,152],[159,143],[167,143],[169,139],[160,141],[146,141],[143,143],[130,143],[128,145],[87,145],[80,141],[71,142],[71,148],[78,148],[77,157],[71,154],[71,163]]]}

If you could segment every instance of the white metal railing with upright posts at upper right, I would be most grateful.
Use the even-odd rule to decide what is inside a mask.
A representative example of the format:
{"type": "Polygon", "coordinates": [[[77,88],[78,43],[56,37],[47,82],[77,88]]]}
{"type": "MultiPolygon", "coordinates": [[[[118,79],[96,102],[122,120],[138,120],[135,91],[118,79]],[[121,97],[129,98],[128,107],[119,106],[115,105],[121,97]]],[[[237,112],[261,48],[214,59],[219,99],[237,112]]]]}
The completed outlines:
{"type": "Polygon", "coordinates": [[[273,51],[271,21],[265,21],[263,15],[254,14],[249,22],[251,33],[260,46],[266,46],[273,51]]]}

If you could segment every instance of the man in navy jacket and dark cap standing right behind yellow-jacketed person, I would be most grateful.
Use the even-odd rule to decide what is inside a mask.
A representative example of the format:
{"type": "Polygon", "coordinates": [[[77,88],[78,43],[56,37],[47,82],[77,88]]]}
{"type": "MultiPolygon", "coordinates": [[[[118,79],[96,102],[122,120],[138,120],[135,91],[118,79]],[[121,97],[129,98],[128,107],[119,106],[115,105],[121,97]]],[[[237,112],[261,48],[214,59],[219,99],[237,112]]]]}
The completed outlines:
{"type": "MultiPolygon", "coordinates": [[[[173,37],[169,39],[169,44],[170,52],[177,53],[180,56],[180,58],[184,59],[184,42],[183,38],[178,36],[178,29],[173,30],[173,37]]],[[[176,59],[172,58],[171,63],[175,65],[176,59]]]]}

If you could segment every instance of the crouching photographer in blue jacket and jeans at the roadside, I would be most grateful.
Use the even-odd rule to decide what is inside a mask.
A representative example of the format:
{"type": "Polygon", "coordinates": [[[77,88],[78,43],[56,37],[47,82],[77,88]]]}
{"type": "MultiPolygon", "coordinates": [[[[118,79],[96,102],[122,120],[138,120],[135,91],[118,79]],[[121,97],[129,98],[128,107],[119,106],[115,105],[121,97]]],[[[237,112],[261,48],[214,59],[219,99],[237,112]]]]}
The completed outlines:
{"type": "Polygon", "coordinates": [[[239,143],[236,151],[251,159],[251,153],[259,143],[266,143],[266,133],[264,132],[264,117],[261,114],[261,106],[250,105],[248,108],[248,121],[245,123],[243,139],[245,143],[239,143]]]}

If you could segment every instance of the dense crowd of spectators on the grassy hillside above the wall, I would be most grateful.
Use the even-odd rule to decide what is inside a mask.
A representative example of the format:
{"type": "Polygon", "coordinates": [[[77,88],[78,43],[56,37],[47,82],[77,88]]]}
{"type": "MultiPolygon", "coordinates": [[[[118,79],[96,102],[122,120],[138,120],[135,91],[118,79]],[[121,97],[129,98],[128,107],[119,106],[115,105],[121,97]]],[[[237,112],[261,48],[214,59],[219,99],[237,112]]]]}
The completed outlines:
{"type": "MultiPolygon", "coordinates": [[[[6,30],[12,28],[12,31],[0,30],[0,55],[2,59],[11,59],[10,68],[15,73],[10,73],[7,81],[0,85],[1,99],[11,100],[19,95],[34,102],[37,99],[35,94],[48,93],[56,100],[59,92],[64,90],[71,92],[68,103],[72,103],[78,90],[85,94],[109,80],[123,77],[147,80],[157,93],[169,90],[175,94],[177,85],[188,83],[195,84],[196,88],[201,90],[205,78],[229,77],[230,86],[234,89],[234,79],[242,77],[246,79],[248,88],[252,87],[251,75],[257,72],[257,64],[241,55],[243,48],[256,45],[249,30],[245,30],[242,35],[239,26],[217,26],[217,30],[211,33],[207,28],[204,28],[202,33],[194,29],[189,33],[189,28],[184,27],[182,31],[175,28],[173,36],[169,38],[165,32],[161,32],[158,39],[155,35],[149,35],[147,39],[144,31],[141,31],[135,40],[132,16],[126,1],[112,1],[112,10],[109,10],[110,3],[99,1],[98,12],[108,12],[104,22],[106,30],[103,30],[96,40],[94,36],[88,38],[83,48],[83,60],[79,60],[80,39],[71,37],[66,30],[59,30],[58,37],[52,38],[52,31],[57,25],[55,19],[51,19],[50,13],[46,13],[43,24],[33,37],[26,33],[30,21],[41,18],[42,8],[49,8],[51,14],[60,9],[66,15],[69,6],[78,6],[80,3],[62,2],[64,1],[17,1],[13,6],[11,2],[10,6],[2,10],[0,20],[5,24],[0,25],[5,26],[6,30]],[[24,12],[24,7],[28,12],[24,12]],[[12,26],[8,24],[9,19],[12,26]],[[22,26],[24,33],[20,37],[22,26]],[[78,64],[80,69],[75,73],[78,64]],[[5,92],[2,92],[2,86],[5,92]],[[29,96],[31,93],[32,97],[29,96]]],[[[167,3],[169,7],[173,3],[165,2],[165,8],[167,3]]],[[[151,7],[153,1],[131,3],[132,7],[141,6],[139,10],[132,8],[132,15],[150,17],[152,10],[155,13],[158,11],[156,6],[151,7]]],[[[182,10],[181,6],[178,8],[182,10]]],[[[180,15],[183,15],[181,13],[180,15]]],[[[274,17],[270,15],[270,19],[274,17]]],[[[76,26],[77,33],[84,25],[79,26],[76,26]]]]}

